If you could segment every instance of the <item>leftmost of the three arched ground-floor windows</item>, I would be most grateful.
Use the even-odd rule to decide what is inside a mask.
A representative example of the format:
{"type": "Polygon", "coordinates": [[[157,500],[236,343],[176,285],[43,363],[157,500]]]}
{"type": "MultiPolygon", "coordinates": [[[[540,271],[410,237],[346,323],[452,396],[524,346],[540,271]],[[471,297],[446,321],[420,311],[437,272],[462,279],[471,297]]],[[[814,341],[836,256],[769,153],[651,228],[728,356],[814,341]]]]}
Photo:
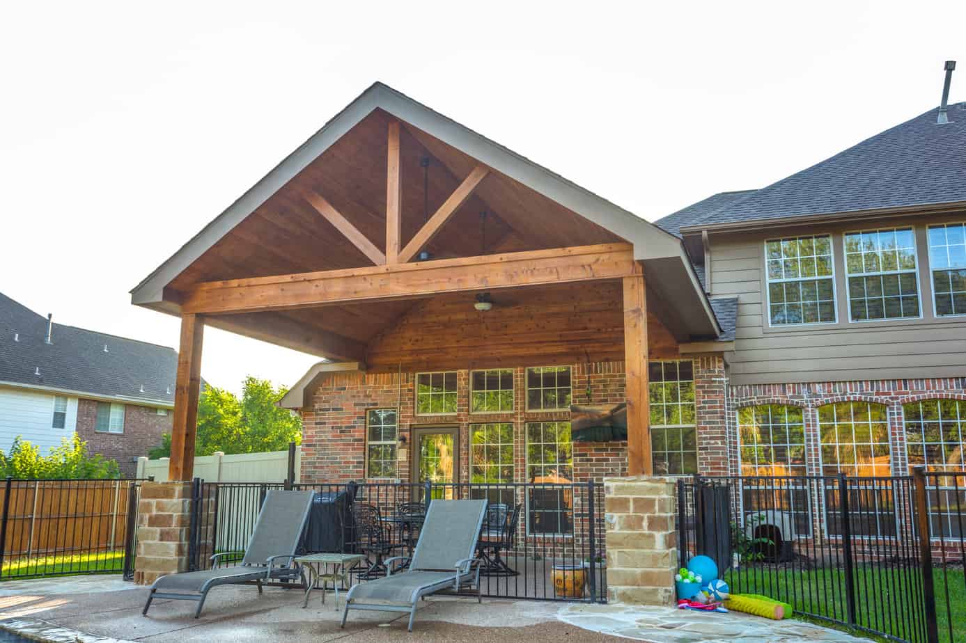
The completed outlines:
{"type": "Polygon", "coordinates": [[[805,423],[798,406],[739,408],[738,439],[742,475],[806,475],[805,423]]]}

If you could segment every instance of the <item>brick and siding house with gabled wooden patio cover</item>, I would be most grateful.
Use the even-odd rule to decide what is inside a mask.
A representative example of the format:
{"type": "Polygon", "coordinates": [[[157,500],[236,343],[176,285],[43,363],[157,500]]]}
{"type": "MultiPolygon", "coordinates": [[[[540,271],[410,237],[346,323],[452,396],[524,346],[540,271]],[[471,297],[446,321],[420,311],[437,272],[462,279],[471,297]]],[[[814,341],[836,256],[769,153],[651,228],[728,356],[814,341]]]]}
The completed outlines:
{"type": "MultiPolygon", "coordinates": [[[[281,403],[306,482],[961,465],[966,110],[949,113],[655,225],[377,83],[132,302],[181,316],[185,362],[204,324],[329,360],[281,403]],[[572,405],[624,402],[628,441],[574,439],[572,405]]],[[[181,377],[190,400],[197,367],[181,377]]],[[[528,533],[571,532],[566,494],[499,493],[528,533]]]]}

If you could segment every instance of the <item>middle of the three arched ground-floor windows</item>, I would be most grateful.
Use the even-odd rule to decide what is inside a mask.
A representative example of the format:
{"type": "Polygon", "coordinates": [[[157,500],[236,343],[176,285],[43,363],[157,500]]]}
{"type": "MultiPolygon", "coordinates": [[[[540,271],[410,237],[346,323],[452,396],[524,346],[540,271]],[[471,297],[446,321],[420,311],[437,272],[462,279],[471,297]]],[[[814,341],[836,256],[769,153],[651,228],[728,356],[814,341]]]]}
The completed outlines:
{"type": "Polygon", "coordinates": [[[851,477],[890,475],[889,415],[886,405],[838,402],[818,407],[822,473],[851,477]]]}

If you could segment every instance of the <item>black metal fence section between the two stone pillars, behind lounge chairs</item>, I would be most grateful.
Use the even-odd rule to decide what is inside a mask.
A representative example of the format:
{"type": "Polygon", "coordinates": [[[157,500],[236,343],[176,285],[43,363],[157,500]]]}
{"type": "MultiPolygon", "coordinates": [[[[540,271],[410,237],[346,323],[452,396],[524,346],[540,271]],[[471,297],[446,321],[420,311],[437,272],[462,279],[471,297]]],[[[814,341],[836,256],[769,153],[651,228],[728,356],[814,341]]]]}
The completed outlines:
{"type": "MultiPolygon", "coordinates": [[[[491,506],[503,505],[510,512],[519,507],[519,521],[507,526],[490,548],[480,547],[485,559],[481,592],[487,597],[551,601],[607,600],[607,565],[604,551],[604,488],[593,482],[573,484],[296,484],[292,489],[312,489],[317,498],[337,498],[336,522],[342,531],[335,542],[340,550],[367,554],[367,562],[355,568],[356,576],[370,570],[382,558],[378,552],[363,551],[365,539],[355,533],[350,503],[376,507],[384,524],[384,557],[407,555],[418,536],[418,525],[408,522],[404,505],[425,506],[426,498],[488,499],[491,506]],[[497,543],[497,541],[503,541],[497,543]]],[[[283,489],[282,483],[205,483],[196,480],[192,493],[191,569],[207,569],[215,552],[239,552],[251,537],[259,509],[269,489],[283,489]]],[[[410,508],[412,510],[412,508],[410,508]]],[[[510,521],[507,520],[507,525],[510,521]]],[[[313,528],[310,520],[309,531],[313,528]]],[[[312,551],[307,535],[306,551],[312,551]]],[[[484,538],[482,542],[487,539],[484,538]]],[[[317,545],[322,546],[322,545],[317,545]]],[[[331,545],[326,545],[331,546],[331,545]]],[[[230,558],[230,557],[229,557],[230,558]]],[[[378,570],[376,573],[380,573],[378,570]]]]}

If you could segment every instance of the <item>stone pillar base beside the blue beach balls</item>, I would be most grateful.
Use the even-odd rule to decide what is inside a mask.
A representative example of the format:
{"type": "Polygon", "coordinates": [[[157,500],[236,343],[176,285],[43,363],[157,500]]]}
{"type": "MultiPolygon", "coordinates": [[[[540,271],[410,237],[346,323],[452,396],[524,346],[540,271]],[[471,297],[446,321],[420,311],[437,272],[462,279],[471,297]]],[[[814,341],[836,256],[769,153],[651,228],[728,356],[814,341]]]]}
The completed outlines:
{"type": "Polygon", "coordinates": [[[674,604],[675,484],[672,477],[604,480],[608,601],[674,604]]]}

